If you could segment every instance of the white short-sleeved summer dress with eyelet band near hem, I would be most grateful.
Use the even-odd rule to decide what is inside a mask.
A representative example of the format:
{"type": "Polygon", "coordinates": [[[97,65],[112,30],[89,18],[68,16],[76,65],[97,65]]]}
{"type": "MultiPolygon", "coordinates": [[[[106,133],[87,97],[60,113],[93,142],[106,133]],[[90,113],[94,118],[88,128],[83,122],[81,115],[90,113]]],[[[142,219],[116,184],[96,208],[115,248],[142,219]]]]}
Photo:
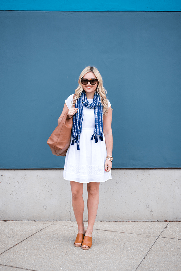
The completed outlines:
{"type": "MultiPolygon", "coordinates": [[[[74,94],[65,100],[68,108],[71,107],[73,96],[74,94]]],[[[88,99],[89,103],[92,101],[93,99],[88,99]]],[[[108,107],[110,106],[108,101],[108,107]]],[[[95,143],[95,139],[90,140],[95,128],[94,109],[83,106],[83,112],[82,132],[79,140],[80,150],[77,150],[77,143],[74,142],[74,145],[70,145],[65,157],[63,178],[79,183],[104,182],[112,179],[111,171],[104,171],[107,156],[105,137],[103,135],[103,141],[98,139],[97,143],[95,143]]]]}

